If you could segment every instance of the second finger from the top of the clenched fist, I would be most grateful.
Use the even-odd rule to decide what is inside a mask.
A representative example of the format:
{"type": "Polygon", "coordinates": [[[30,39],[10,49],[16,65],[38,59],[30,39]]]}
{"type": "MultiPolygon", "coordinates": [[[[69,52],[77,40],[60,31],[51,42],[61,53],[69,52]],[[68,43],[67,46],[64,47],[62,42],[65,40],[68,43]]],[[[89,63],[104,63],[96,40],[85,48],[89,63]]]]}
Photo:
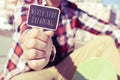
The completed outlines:
{"type": "Polygon", "coordinates": [[[47,47],[47,43],[38,40],[38,39],[29,39],[29,40],[25,40],[25,42],[23,43],[24,49],[37,49],[37,50],[45,50],[47,47]]]}

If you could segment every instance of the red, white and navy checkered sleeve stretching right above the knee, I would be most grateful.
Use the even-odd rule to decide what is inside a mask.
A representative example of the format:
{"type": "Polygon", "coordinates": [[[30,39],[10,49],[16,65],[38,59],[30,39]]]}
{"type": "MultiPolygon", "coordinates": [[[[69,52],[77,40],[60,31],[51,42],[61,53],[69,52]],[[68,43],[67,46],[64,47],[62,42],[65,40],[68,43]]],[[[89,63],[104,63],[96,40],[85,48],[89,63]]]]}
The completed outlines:
{"type": "MultiPolygon", "coordinates": [[[[98,19],[80,9],[75,10],[74,12],[76,15],[73,17],[73,20],[79,28],[95,35],[109,35],[115,40],[116,47],[120,48],[120,29],[117,25],[98,19]]],[[[76,25],[74,24],[74,26],[76,25]]]]}

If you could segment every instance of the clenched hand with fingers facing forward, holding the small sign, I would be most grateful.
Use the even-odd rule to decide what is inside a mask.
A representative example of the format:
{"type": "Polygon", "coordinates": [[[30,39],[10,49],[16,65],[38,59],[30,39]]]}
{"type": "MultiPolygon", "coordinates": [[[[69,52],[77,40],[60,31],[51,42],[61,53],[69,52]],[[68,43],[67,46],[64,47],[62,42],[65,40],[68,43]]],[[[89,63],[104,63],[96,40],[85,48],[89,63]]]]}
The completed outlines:
{"type": "Polygon", "coordinates": [[[41,70],[48,64],[53,46],[52,36],[53,31],[44,32],[38,28],[33,28],[22,34],[22,57],[32,69],[41,70]]]}

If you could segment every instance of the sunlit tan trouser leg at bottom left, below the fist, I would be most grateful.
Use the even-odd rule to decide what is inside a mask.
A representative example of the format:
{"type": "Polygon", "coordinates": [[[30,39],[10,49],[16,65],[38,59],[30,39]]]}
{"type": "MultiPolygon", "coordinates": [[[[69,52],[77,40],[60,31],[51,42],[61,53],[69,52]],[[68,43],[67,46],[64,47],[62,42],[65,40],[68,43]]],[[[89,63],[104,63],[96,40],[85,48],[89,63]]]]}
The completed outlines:
{"type": "Polygon", "coordinates": [[[41,71],[22,73],[13,77],[11,80],[55,80],[54,72],[51,71],[55,71],[55,68],[51,67],[41,71]]]}

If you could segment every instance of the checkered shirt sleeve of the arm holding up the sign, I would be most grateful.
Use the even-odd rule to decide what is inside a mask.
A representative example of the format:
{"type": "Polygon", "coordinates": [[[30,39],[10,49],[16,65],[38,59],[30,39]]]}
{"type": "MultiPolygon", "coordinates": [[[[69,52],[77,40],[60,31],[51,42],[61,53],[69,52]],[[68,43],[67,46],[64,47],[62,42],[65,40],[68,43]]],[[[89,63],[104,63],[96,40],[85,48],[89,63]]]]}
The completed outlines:
{"type": "Polygon", "coordinates": [[[8,53],[8,60],[0,75],[0,80],[10,80],[13,76],[29,71],[31,68],[27,65],[26,61],[21,58],[23,50],[20,46],[20,35],[30,29],[31,27],[26,24],[27,12],[30,4],[41,3],[41,0],[16,0],[17,5],[14,12],[14,26],[15,32],[13,34],[12,48],[8,53]]]}

